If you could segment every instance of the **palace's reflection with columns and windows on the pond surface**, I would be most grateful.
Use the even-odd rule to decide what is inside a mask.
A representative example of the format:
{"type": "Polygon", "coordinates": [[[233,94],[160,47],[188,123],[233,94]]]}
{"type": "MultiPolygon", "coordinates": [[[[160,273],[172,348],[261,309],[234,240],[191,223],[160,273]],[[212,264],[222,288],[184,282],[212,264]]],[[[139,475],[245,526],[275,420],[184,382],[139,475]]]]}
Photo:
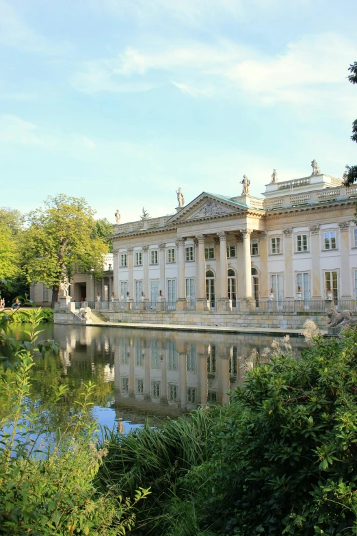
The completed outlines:
{"type": "MultiPolygon", "coordinates": [[[[111,402],[118,423],[143,422],[143,416],[172,418],[198,405],[228,403],[228,391],[241,385],[242,357],[259,355],[276,337],[252,334],[150,331],[110,327],[55,325],[67,368],[101,367],[105,382],[114,383],[111,402]]],[[[304,340],[291,338],[296,356],[304,340]]]]}

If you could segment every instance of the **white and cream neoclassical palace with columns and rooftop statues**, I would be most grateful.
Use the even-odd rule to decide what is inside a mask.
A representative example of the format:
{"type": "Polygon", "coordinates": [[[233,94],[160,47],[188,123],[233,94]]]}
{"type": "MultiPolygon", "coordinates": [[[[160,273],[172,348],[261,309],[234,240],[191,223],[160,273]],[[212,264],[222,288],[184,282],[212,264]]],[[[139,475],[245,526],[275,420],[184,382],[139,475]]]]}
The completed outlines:
{"type": "Polygon", "coordinates": [[[289,181],[274,170],[264,199],[244,176],[241,195],[185,205],[179,189],[176,214],[115,225],[115,300],[226,311],[244,298],[356,299],[357,186],[311,166],[289,181]]]}

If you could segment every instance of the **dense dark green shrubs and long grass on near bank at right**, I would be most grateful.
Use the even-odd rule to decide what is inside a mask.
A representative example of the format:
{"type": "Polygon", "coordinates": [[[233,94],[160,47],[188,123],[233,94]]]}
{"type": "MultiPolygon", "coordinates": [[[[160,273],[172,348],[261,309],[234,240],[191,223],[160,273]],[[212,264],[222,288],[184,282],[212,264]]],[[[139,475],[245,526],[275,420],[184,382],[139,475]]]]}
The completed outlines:
{"type": "Polygon", "coordinates": [[[137,533],[357,534],[356,353],[354,329],[299,361],[276,344],[229,407],[108,437],[98,477],[151,487],[137,533]]]}

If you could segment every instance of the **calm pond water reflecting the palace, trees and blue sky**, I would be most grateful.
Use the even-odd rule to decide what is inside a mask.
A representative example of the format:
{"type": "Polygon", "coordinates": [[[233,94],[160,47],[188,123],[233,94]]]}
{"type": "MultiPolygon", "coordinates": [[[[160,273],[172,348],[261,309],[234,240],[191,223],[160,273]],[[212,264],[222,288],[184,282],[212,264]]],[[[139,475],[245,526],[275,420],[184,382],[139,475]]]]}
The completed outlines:
{"type": "MultiPolygon", "coordinates": [[[[14,329],[20,335],[24,328],[14,329]]],[[[46,405],[51,385],[69,392],[53,410],[58,426],[68,420],[73,403],[88,380],[96,383],[93,417],[110,429],[129,431],[164,416],[175,418],[198,405],[228,403],[227,391],[241,385],[246,366],[241,357],[259,355],[276,337],[115,327],[43,324],[39,340],[54,339],[59,356],[36,357],[32,396],[46,405]]],[[[299,355],[305,342],[292,337],[299,355]]],[[[50,408],[51,411],[51,408],[50,408]]]]}

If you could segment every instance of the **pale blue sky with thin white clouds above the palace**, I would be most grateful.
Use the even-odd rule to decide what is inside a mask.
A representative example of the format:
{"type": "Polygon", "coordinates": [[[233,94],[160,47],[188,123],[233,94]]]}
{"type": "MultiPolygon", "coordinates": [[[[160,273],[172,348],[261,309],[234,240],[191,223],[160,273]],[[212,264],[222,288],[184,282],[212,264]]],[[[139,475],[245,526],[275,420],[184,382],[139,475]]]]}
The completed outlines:
{"type": "Polygon", "coordinates": [[[114,222],[357,164],[356,0],[0,0],[0,205],[114,222]]]}

